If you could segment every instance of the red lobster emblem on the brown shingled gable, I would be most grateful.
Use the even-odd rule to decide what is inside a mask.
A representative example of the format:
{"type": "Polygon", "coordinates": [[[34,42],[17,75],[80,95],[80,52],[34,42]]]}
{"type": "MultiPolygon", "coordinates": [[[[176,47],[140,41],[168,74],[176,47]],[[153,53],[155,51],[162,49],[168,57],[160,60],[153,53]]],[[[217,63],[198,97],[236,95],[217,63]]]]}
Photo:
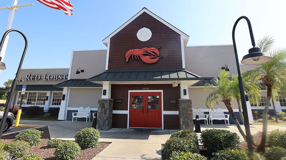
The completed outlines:
{"type": "Polygon", "coordinates": [[[159,51],[158,48],[155,47],[143,47],[141,49],[130,49],[129,51],[126,52],[125,57],[126,57],[126,62],[128,62],[130,56],[132,56],[132,59],[134,60],[134,58],[136,60],[141,59],[143,62],[151,64],[151,63],[155,63],[159,60],[159,51]]]}

